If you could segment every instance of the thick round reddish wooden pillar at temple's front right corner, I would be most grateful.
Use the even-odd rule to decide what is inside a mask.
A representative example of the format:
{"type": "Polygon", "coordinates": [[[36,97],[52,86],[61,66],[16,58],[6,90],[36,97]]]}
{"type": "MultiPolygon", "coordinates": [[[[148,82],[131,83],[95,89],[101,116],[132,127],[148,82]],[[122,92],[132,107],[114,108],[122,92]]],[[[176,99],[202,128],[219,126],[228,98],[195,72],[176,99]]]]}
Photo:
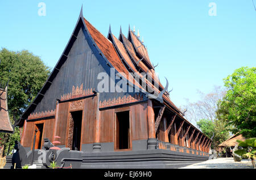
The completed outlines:
{"type": "Polygon", "coordinates": [[[152,101],[149,98],[147,100],[147,123],[148,123],[147,149],[155,149],[155,146],[156,146],[155,113],[154,113],[152,101]]]}

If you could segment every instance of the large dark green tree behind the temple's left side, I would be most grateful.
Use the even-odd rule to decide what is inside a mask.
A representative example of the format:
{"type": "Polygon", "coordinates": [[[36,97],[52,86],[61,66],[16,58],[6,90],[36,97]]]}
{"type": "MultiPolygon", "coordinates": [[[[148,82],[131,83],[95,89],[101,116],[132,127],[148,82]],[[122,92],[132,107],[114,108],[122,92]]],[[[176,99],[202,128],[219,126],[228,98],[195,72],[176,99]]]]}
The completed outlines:
{"type": "MultiPolygon", "coordinates": [[[[7,101],[10,119],[14,123],[13,117],[18,119],[32,102],[49,76],[50,69],[40,57],[28,50],[13,52],[3,48],[0,59],[0,82],[9,81],[7,101]]],[[[9,144],[11,151],[14,140],[20,140],[19,128],[15,128],[14,134],[0,133],[0,138],[1,144],[5,145],[5,153],[9,144]]]]}

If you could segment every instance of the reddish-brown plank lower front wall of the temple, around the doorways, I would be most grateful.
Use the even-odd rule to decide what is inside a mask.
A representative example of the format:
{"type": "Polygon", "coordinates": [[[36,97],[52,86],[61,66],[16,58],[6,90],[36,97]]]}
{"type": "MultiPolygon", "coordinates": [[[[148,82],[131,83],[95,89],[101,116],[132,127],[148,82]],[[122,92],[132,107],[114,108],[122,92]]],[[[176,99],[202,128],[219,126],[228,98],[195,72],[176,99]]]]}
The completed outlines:
{"type": "MultiPolygon", "coordinates": [[[[71,101],[72,102],[72,101],[71,101]]],[[[26,132],[24,132],[24,147],[32,147],[34,138],[35,123],[44,123],[43,138],[54,141],[58,140],[60,144],[67,147],[68,138],[68,119],[71,115],[69,106],[71,102],[61,102],[57,119],[46,119],[41,121],[27,122],[26,132]],[[53,139],[54,136],[60,136],[60,139],[53,139]]],[[[83,118],[81,127],[81,144],[94,143],[95,123],[96,123],[96,97],[85,98],[83,102],[83,118]]],[[[100,111],[100,142],[114,142],[115,135],[115,112],[130,111],[130,131],[131,140],[147,139],[147,103],[127,106],[125,108],[106,109],[100,111]]],[[[42,142],[43,144],[43,142],[42,142]]]]}

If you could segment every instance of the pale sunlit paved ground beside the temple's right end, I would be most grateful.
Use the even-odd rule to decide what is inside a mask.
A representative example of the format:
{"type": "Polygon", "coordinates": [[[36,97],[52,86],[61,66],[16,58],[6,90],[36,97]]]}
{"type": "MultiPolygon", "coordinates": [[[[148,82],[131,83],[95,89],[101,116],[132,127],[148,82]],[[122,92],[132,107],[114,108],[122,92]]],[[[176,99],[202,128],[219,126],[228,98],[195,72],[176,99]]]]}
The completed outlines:
{"type": "Polygon", "coordinates": [[[215,158],[204,162],[199,162],[180,169],[254,169],[251,160],[234,162],[233,157],[215,158]]]}

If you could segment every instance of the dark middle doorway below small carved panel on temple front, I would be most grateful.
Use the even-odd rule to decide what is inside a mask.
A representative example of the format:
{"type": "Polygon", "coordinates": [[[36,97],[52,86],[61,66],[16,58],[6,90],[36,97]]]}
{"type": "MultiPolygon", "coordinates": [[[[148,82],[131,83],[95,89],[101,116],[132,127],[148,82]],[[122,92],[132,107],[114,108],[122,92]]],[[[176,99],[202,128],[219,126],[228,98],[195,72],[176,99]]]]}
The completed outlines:
{"type": "Polygon", "coordinates": [[[71,115],[74,122],[72,150],[80,151],[82,111],[72,112],[71,115]]]}

